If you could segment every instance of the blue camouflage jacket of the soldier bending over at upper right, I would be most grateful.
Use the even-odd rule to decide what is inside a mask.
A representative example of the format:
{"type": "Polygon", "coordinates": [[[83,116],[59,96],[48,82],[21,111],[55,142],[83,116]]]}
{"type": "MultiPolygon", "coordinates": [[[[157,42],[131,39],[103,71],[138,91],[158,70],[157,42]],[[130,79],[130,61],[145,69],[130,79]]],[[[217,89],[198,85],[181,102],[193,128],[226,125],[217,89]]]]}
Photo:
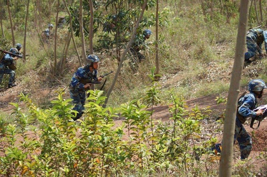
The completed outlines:
{"type": "Polygon", "coordinates": [[[265,51],[267,53],[267,31],[261,29],[250,30],[247,34],[247,40],[253,40],[257,43],[259,54],[262,54],[262,43],[264,42],[265,51]]]}

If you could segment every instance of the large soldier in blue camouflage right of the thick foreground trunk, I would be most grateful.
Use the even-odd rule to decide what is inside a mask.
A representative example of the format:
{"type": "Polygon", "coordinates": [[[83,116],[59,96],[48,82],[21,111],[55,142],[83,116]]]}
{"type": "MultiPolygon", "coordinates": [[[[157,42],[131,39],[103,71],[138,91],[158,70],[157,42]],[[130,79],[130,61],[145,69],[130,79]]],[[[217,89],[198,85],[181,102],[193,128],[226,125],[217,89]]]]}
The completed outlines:
{"type": "MultiPolygon", "coordinates": [[[[245,123],[247,117],[255,117],[263,114],[263,110],[257,112],[252,111],[257,104],[257,98],[261,98],[263,89],[266,89],[264,81],[260,79],[251,80],[248,84],[249,94],[242,96],[237,103],[237,117],[234,131],[234,142],[237,140],[240,147],[241,160],[246,159],[252,149],[252,139],[242,124],[245,123]]],[[[221,153],[221,143],[215,145],[212,150],[216,149],[221,153]]]]}

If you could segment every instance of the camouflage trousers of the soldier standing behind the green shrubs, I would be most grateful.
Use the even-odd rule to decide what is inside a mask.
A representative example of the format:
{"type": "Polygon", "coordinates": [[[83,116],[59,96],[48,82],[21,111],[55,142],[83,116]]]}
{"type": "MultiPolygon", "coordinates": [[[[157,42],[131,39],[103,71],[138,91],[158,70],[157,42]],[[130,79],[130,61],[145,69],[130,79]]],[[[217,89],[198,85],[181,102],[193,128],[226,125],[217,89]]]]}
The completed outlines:
{"type": "Polygon", "coordinates": [[[75,104],[73,110],[78,111],[77,119],[80,118],[83,114],[84,104],[86,100],[86,95],[84,90],[70,90],[70,98],[73,99],[72,103],[75,104]]]}

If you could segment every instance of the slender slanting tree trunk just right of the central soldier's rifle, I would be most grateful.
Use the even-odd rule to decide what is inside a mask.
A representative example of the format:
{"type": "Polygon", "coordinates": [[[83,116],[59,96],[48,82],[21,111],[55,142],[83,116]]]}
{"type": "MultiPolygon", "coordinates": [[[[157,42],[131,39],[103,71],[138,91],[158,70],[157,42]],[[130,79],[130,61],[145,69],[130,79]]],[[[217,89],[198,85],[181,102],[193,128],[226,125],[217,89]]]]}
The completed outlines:
{"type": "Polygon", "coordinates": [[[105,103],[104,103],[104,105],[103,105],[104,108],[106,107],[106,105],[107,105],[107,101],[108,101],[109,96],[110,96],[110,94],[111,94],[111,91],[113,90],[113,87],[115,86],[115,83],[116,83],[116,80],[117,80],[117,78],[118,78],[118,76],[119,76],[120,68],[122,67],[122,63],[123,63],[123,61],[124,61],[124,59],[125,59],[126,53],[128,52],[130,46],[132,45],[132,42],[134,41],[134,36],[135,36],[135,34],[136,34],[136,30],[137,30],[137,28],[138,28],[138,26],[139,26],[139,23],[140,23],[140,21],[141,21],[141,19],[142,19],[142,17],[143,17],[143,14],[144,14],[144,11],[145,11],[145,9],[146,9],[146,6],[147,6],[147,0],[144,0],[144,5],[143,5],[143,7],[142,7],[142,11],[141,11],[140,17],[139,17],[139,19],[138,19],[138,21],[137,21],[137,23],[136,23],[135,28],[134,28],[134,32],[133,32],[133,34],[132,34],[131,40],[128,42],[127,47],[126,47],[126,49],[125,49],[124,52],[123,52],[123,55],[122,55],[121,60],[120,60],[120,64],[119,64],[118,69],[117,69],[116,74],[115,74],[115,77],[114,77],[114,79],[113,79],[113,81],[112,81],[112,84],[111,84],[111,86],[110,86],[110,89],[107,91],[107,98],[106,98],[105,103]]]}

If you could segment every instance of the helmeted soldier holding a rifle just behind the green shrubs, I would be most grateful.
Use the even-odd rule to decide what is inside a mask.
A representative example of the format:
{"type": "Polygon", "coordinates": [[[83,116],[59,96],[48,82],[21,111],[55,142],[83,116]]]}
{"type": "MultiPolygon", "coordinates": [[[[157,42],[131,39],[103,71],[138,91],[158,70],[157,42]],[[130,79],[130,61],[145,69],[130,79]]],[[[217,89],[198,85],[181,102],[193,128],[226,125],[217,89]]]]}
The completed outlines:
{"type": "Polygon", "coordinates": [[[88,90],[91,86],[91,83],[83,84],[82,80],[90,81],[101,81],[102,78],[97,78],[97,69],[99,58],[96,55],[88,55],[86,58],[88,64],[81,68],[78,68],[77,71],[73,74],[73,77],[70,82],[70,98],[73,99],[73,104],[75,104],[73,110],[78,111],[79,113],[73,120],[79,119],[84,110],[84,104],[86,100],[85,91],[88,90]]]}

